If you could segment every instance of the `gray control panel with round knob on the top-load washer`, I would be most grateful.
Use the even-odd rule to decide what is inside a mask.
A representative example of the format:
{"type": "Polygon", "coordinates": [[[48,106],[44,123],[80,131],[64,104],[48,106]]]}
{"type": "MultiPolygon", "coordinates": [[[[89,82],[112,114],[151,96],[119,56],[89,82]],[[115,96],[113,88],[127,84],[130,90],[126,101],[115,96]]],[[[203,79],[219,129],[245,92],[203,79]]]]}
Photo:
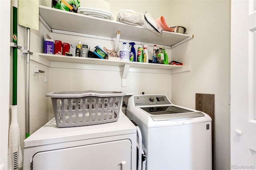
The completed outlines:
{"type": "Polygon", "coordinates": [[[134,96],[135,106],[144,105],[168,105],[172,104],[166,95],[137,95],[134,96]]]}

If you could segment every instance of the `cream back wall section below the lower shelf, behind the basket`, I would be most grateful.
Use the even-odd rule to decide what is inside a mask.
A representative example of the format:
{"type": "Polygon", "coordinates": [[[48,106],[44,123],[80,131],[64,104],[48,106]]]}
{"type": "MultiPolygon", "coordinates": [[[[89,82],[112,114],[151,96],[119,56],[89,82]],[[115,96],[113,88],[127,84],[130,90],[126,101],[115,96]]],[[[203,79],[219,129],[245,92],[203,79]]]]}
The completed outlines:
{"type": "MultiPolygon", "coordinates": [[[[124,91],[125,93],[170,94],[171,75],[130,72],[127,87],[121,87],[120,71],[87,69],[50,69],[50,91],[124,91]]],[[[170,95],[168,95],[170,97],[170,95]]],[[[126,103],[127,104],[127,103],[126,103]]],[[[49,119],[54,117],[51,102],[49,119]]]]}

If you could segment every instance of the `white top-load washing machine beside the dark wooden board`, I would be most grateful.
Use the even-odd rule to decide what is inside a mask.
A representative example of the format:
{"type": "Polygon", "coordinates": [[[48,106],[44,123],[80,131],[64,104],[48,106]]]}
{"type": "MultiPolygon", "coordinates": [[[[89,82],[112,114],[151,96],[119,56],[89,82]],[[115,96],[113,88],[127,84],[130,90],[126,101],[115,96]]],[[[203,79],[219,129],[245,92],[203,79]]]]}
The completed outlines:
{"type": "Polygon", "coordinates": [[[212,170],[212,119],[166,95],[134,95],[126,116],[138,124],[147,170],[212,170]]]}

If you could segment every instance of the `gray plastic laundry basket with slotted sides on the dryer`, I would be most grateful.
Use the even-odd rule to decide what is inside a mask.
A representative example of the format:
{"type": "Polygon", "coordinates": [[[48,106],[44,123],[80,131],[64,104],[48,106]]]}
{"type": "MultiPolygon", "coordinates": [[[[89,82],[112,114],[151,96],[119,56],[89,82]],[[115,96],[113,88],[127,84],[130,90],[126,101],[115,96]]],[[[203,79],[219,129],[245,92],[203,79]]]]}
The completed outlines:
{"type": "Polygon", "coordinates": [[[51,92],[57,127],[78,127],[118,120],[122,91],[51,92]]]}

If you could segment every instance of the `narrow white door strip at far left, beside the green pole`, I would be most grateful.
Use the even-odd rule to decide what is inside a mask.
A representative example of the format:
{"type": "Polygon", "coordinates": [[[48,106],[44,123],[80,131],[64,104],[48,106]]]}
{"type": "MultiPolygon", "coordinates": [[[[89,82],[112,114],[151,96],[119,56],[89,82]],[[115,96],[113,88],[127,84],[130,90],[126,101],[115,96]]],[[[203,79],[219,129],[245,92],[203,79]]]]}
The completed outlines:
{"type": "Polygon", "coordinates": [[[10,9],[9,0],[0,0],[0,170],[7,169],[8,155],[10,9]]]}

